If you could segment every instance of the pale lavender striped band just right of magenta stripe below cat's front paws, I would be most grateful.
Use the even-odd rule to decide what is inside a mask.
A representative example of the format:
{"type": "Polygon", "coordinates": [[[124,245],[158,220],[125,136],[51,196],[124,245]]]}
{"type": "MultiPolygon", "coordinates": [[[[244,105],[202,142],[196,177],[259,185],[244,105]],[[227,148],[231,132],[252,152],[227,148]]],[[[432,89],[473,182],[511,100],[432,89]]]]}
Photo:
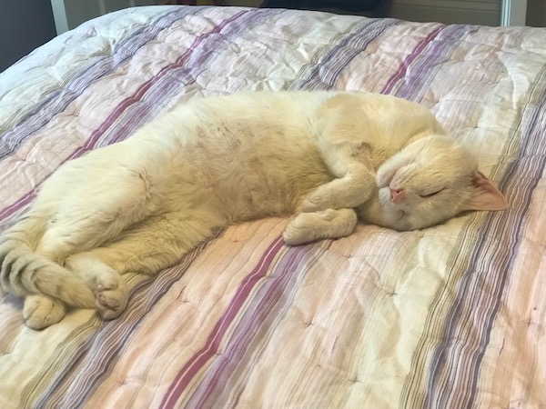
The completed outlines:
{"type": "Polygon", "coordinates": [[[249,358],[246,359],[246,356],[255,352],[249,347],[253,340],[264,339],[264,333],[274,331],[273,324],[288,312],[291,300],[298,291],[298,282],[308,271],[303,265],[315,254],[322,254],[329,244],[331,241],[288,248],[271,274],[268,274],[267,283],[259,288],[241,314],[237,328],[231,331],[233,337],[227,344],[222,343],[226,344],[224,353],[217,356],[214,364],[207,369],[207,375],[187,402],[188,407],[220,407],[227,404],[229,398],[237,402],[238,397],[231,395],[236,392],[239,395],[242,391],[232,388],[226,390],[229,379],[238,369],[242,369],[242,365],[248,363],[249,358]],[[279,303],[280,300],[282,303],[279,303]],[[227,395],[223,395],[223,392],[227,395]]]}

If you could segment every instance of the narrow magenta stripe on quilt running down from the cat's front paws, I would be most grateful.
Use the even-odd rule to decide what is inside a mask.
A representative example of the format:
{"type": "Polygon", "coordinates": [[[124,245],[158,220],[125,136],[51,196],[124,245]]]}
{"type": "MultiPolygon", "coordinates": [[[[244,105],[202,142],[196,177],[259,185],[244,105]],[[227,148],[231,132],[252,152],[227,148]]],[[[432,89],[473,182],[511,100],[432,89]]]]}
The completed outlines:
{"type": "Polygon", "coordinates": [[[212,332],[207,338],[207,342],[187,363],[182,367],[173,383],[169,386],[165,395],[161,408],[172,408],[177,404],[177,398],[187,388],[187,385],[194,376],[207,364],[208,360],[213,357],[217,351],[218,345],[227,332],[229,326],[233,323],[238,315],[241,307],[247,301],[248,294],[252,291],[258,281],[268,272],[269,265],[277,256],[279,250],[283,247],[284,241],[278,237],[272,244],[269,245],[266,252],[262,255],[258,265],[245,277],[237,293],[233,297],[231,303],[227,306],[226,311],[212,332]]]}

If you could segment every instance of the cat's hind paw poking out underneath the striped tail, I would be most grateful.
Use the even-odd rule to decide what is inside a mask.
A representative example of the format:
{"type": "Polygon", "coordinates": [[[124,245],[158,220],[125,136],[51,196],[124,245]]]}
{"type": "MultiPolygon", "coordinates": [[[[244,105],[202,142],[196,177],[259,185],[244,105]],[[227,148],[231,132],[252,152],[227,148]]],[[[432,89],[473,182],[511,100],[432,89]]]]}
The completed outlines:
{"type": "Polygon", "coordinates": [[[66,305],[42,294],[27,295],[23,317],[29,328],[42,330],[57,324],[66,315],[66,305]]]}

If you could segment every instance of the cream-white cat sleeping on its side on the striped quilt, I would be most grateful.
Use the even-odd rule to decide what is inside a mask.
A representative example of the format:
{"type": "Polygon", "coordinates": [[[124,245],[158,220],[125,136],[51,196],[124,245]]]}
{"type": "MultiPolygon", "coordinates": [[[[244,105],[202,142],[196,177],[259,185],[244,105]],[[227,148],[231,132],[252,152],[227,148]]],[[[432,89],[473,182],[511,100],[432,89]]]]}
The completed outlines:
{"type": "Polygon", "coordinates": [[[156,274],[218,230],[292,215],[287,244],[339,238],[358,219],[421,229],[507,202],[426,108],[357,92],[194,99],[126,141],[61,165],[0,240],[0,284],[25,323],[66,306],[114,319],[122,274],[156,274]]]}

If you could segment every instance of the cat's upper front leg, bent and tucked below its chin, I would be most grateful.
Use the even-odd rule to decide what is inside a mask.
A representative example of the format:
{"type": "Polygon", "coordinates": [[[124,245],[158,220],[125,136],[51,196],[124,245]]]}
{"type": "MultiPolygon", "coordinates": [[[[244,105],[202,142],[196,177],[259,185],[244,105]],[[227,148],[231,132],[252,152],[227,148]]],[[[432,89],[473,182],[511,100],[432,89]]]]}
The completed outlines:
{"type": "Polygon", "coordinates": [[[369,148],[365,144],[319,145],[329,171],[336,176],[320,185],[303,201],[303,212],[357,207],[368,201],[377,190],[369,148]]]}

